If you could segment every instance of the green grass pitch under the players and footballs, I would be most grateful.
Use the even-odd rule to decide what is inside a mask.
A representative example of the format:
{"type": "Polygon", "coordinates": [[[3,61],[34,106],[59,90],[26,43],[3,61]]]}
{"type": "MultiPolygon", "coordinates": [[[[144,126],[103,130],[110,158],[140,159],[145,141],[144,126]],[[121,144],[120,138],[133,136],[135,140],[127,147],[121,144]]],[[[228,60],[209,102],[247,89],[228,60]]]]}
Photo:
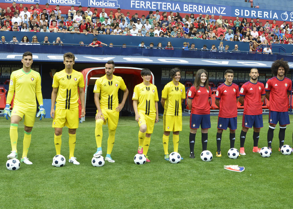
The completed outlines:
{"type": "MultiPolygon", "coordinates": [[[[292,121],[292,115],[290,115],[292,121]]],[[[273,153],[262,158],[252,153],[253,130],[247,133],[246,156],[229,159],[229,131],[223,132],[222,157],[215,156],[217,116],[211,116],[207,149],[213,154],[211,162],[203,162],[201,133],[195,141],[195,159],[189,158],[189,117],[183,117],[179,153],[183,160],[171,164],[164,160],[162,146],[163,121],[154,126],[148,152],[150,163],[136,165],[133,157],[138,147],[138,125],[134,117],[120,117],[111,157],[115,163],[105,162],[93,167],[91,158],[96,151],[94,118],[86,118],[77,130],[75,157],[81,163],[68,162],[68,130],[63,129],[61,154],[64,167],[51,165],[55,155],[52,119],[36,119],[28,152],[33,165],[21,163],[17,171],[6,169],[10,120],[0,118],[2,154],[0,159],[1,208],[291,208],[292,159],[278,152],[277,126],[273,153]],[[242,173],[231,172],[224,165],[244,166],[242,173]]],[[[267,146],[268,115],[263,116],[259,147],[267,146]]],[[[238,116],[235,148],[239,149],[242,116],[238,116]]],[[[22,154],[23,123],[18,128],[18,159],[22,154]]],[[[103,126],[102,149],[107,151],[108,128],[103,126]]],[[[292,146],[292,125],[288,125],[285,143],[292,146]]],[[[173,151],[172,134],[169,154],[173,151]]]]}

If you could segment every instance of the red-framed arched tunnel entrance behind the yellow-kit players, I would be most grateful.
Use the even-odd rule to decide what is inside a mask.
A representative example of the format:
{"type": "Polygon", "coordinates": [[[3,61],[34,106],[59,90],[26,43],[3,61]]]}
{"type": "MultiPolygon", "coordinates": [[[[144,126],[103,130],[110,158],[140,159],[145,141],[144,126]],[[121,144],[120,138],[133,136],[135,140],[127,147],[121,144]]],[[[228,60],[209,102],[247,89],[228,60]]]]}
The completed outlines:
{"type": "MultiPolygon", "coordinates": [[[[123,110],[121,111],[122,116],[129,115],[129,113],[133,112],[132,107],[132,94],[134,86],[141,83],[143,80],[141,78],[140,72],[143,68],[134,68],[134,67],[116,67],[114,75],[115,76],[121,76],[125,82],[125,85],[127,86],[127,89],[129,91],[128,99],[125,102],[125,105],[123,107],[123,110]]],[[[94,85],[96,82],[96,79],[99,79],[100,77],[105,75],[105,67],[97,67],[97,68],[86,68],[81,71],[83,74],[84,79],[84,91],[85,91],[85,107],[86,107],[86,116],[94,116],[96,115],[96,105],[94,103],[94,85]]],[[[151,81],[152,84],[154,84],[154,75],[152,74],[151,81]]],[[[118,92],[118,98],[119,102],[122,101],[123,97],[123,91],[119,90],[118,92]]],[[[82,121],[84,121],[85,118],[82,118],[82,121]]]]}

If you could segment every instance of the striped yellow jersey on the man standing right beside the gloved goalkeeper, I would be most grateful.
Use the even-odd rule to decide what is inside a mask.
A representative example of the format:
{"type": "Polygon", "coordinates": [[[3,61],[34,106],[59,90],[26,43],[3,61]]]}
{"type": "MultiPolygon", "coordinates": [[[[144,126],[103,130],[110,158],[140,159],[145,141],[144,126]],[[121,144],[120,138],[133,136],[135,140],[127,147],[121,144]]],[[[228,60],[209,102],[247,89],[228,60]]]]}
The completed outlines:
{"type": "Polygon", "coordinates": [[[83,74],[81,72],[73,70],[68,75],[64,69],[55,73],[52,87],[58,89],[56,108],[78,110],[78,87],[84,87],[83,74]]]}

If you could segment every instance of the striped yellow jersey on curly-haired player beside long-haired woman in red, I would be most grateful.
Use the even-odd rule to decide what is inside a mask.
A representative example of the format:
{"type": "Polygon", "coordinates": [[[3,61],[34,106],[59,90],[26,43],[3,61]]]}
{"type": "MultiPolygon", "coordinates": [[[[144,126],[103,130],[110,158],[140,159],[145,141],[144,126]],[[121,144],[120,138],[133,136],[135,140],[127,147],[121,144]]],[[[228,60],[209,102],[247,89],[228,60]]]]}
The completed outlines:
{"type": "Polygon", "coordinates": [[[165,101],[164,115],[182,115],[181,99],[185,99],[185,86],[179,82],[175,86],[173,81],[165,85],[162,90],[162,98],[165,101]]]}

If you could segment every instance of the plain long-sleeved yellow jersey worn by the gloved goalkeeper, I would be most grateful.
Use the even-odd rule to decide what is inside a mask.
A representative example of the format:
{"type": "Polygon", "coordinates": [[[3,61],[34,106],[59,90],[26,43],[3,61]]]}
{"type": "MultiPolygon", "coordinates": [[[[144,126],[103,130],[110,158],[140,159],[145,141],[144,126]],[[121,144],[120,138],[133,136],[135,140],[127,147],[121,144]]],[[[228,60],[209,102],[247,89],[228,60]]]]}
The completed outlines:
{"type": "Polygon", "coordinates": [[[36,111],[36,97],[39,104],[43,104],[40,74],[32,69],[25,73],[22,68],[12,72],[6,100],[7,104],[11,103],[14,92],[14,105],[21,107],[22,110],[36,111]]]}

